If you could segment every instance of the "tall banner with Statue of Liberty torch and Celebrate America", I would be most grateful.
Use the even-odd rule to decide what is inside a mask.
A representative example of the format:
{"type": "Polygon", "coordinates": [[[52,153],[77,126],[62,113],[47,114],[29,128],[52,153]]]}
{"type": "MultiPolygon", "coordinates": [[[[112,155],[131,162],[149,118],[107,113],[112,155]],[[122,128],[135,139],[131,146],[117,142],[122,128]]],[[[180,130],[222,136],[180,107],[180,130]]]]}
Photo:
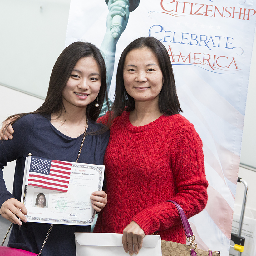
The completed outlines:
{"type": "Polygon", "coordinates": [[[255,1],[248,0],[71,0],[66,34],[66,46],[85,40],[104,52],[112,101],[126,45],[142,36],[165,45],[182,115],[203,141],[209,181],[207,206],[190,224],[199,248],[224,256],[229,255],[255,9],[255,1]]]}

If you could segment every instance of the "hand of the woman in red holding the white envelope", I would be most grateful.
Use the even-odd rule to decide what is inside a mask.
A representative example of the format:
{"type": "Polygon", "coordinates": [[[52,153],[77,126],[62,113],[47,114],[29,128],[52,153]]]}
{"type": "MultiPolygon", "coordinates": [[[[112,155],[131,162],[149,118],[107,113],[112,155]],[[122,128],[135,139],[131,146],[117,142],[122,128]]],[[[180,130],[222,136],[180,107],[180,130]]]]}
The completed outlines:
{"type": "Polygon", "coordinates": [[[123,231],[122,244],[125,252],[129,252],[130,255],[138,254],[142,248],[144,237],[143,229],[135,221],[132,221],[123,231]]]}

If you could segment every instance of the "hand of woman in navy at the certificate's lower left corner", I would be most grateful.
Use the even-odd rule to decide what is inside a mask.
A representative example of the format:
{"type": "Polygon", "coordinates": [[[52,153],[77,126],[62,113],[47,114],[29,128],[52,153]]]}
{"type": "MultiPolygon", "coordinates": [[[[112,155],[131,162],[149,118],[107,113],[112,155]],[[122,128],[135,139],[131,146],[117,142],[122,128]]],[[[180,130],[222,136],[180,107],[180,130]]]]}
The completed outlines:
{"type": "Polygon", "coordinates": [[[26,207],[15,198],[10,198],[2,204],[0,208],[0,214],[5,219],[8,219],[12,223],[18,224],[20,226],[22,225],[21,220],[27,222],[27,218],[25,216],[27,215],[26,207]]]}

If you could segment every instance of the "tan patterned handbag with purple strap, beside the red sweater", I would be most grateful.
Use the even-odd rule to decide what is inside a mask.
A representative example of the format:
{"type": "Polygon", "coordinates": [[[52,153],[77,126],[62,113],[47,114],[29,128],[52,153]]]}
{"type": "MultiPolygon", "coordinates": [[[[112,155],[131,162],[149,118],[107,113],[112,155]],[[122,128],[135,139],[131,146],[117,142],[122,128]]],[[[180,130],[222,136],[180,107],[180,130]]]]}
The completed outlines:
{"type": "Polygon", "coordinates": [[[175,204],[177,207],[181,222],[187,236],[187,241],[190,243],[189,245],[180,244],[171,241],[161,240],[161,247],[162,247],[162,256],[219,256],[220,251],[213,252],[211,250],[204,251],[197,248],[197,244],[194,242],[195,236],[193,235],[192,229],[188,222],[188,219],[179,204],[174,201],[167,201],[175,204]]]}

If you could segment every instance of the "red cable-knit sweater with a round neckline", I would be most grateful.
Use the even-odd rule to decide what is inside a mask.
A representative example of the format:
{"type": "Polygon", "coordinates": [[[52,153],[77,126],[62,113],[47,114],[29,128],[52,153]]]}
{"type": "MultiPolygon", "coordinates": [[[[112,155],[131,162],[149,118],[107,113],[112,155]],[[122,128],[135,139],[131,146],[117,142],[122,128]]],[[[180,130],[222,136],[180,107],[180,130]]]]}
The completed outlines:
{"type": "Polygon", "coordinates": [[[207,202],[202,141],[183,116],[160,116],[135,127],[123,112],[111,126],[105,153],[108,203],[94,232],[122,233],[134,220],[145,234],[186,243],[174,200],[188,218],[207,202]]]}

